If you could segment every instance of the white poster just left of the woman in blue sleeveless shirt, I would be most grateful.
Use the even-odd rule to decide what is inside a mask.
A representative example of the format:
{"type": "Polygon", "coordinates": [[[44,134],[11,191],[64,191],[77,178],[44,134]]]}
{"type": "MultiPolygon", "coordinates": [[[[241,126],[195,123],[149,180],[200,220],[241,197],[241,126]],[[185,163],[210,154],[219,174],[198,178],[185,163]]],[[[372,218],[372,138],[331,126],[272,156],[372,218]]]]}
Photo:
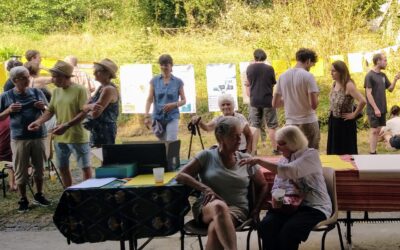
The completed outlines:
{"type": "Polygon", "coordinates": [[[122,113],[145,113],[152,77],[151,64],[126,64],[120,67],[122,113]]]}

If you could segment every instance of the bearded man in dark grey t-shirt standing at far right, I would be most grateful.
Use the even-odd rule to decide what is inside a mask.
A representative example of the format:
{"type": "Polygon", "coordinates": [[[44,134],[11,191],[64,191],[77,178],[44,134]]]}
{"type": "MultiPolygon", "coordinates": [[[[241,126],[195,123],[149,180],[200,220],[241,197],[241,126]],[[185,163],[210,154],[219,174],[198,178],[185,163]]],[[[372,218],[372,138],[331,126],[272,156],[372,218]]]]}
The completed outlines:
{"type": "Polygon", "coordinates": [[[367,115],[370,125],[369,149],[370,154],[376,154],[376,144],[378,142],[379,132],[386,125],[386,89],[390,92],[396,86],[400,74],[394,77],[393,83],[390,83],[385,73],[387,59],[382,53],[375,54],[373,59],[374,67],[365,76],[364,88],[367,97],[367,115]]]}

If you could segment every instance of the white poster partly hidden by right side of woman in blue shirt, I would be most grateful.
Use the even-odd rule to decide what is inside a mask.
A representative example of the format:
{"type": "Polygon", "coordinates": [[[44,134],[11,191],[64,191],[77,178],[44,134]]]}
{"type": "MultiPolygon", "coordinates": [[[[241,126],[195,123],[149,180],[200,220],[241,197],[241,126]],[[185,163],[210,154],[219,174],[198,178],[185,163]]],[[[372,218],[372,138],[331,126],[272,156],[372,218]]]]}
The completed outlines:
{"type": "Polygon", "coordinates": [[[196,84],[194,79],[194,67],[188,65],[174,65],[172,74],[183,81],[186,104],[179,108],[181,113],[196,113],[196,84]]]}

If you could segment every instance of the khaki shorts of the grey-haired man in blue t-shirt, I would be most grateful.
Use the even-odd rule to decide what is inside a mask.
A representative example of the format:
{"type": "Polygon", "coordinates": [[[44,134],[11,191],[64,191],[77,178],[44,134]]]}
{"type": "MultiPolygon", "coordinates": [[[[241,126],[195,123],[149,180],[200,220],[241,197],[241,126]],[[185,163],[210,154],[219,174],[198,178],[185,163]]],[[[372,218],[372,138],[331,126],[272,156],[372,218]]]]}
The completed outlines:
{"type": "Polygon", "coordinates": [[[28,182],[28,168],[32,164],[32,175],[35,179],[43,179],[45,156],[45,139],[11,140],[15,183],[24,185],[28,182]]]}

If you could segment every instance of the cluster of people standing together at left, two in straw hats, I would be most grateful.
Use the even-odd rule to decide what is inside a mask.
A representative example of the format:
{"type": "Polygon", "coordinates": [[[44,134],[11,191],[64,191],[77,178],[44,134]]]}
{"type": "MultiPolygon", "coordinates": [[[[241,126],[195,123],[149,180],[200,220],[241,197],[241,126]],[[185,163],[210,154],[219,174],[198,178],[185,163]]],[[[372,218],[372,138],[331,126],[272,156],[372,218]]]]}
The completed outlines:
{"type": "Polygon", "coordinates": [[[77,69],[74,56],[68,56],[68,62],[57,61],[49,69],[50,77],[39,76],[38,51],[28,50],[25,57],[24,65],[18,60],[8,62],[9,79],[0,96],[0,155],[2,161],[12,162],[9,180],[20,195],[19,212],[29,209],[26,185],[30,177],[36,186],[33,203],[50,204],[43,194],[43,171],[52,139],[56,165],[64,186],[69,187],[71,154],[83,179],[91,178],[90,147],[115,143],[119,115],[119,91],[112,83],[118,66],[110,59],[94,63],[94,80],[100,85],[94,91],[94,80],[77,69]],[[47,89],[49,83],[56,86],[52,92],[47,89]]]}

